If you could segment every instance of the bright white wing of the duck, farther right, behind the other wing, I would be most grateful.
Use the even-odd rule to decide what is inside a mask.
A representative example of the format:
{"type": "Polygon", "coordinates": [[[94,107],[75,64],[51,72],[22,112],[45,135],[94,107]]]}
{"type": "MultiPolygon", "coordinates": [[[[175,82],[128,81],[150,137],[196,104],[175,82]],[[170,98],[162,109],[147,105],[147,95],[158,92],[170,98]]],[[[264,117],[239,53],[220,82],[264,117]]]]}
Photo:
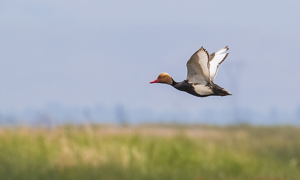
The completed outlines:
{"type": "Polygon", "coordinates": [[[213,52],[209,55],[209,71],[210,71],[210,80],[214,82],[214,78],[217,75],[219,65],[225,60],[229,53],[222,54],[223,52],[227,51],[229,48],[228,46],[213,52]]]}

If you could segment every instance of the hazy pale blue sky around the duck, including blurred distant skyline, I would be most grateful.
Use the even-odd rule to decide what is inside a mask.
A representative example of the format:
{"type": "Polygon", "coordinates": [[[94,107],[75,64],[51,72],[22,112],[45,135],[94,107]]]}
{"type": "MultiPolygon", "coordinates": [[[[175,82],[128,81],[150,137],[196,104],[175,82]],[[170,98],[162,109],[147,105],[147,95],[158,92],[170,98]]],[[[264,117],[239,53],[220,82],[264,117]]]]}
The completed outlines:
{"type": "Polygon", "coordinates": [[[300,124],[300,1],[0,1],[0,122],[300,124]],[[197,98],[201,46],[229,46],[197,98]]]}

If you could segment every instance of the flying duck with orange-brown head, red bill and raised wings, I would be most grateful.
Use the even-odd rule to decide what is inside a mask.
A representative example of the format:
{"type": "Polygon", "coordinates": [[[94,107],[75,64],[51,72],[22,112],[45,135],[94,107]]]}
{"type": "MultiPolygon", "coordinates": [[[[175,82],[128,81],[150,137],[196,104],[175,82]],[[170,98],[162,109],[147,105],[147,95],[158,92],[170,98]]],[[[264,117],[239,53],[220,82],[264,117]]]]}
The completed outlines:
{"type": "Polygon", "coordinates": [[[187,92],[197,97],[227,96],[230,94],[225,88],[214,84],[219,65],[229,53],[228,46],[208,54],[203,46],[187,61],[187,78],[182,82],[175,82],[168,73],[161,73],[157,79],[150,83],[169,84],[179,91],[187,92]]]}

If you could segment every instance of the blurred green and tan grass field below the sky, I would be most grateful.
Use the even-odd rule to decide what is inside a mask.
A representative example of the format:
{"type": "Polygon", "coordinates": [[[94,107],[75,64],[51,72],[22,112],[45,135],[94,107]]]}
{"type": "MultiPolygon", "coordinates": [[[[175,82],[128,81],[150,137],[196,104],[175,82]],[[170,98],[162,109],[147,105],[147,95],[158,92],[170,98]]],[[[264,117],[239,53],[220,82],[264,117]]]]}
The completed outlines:
{"type": "Polygon", "coordinates": [[[0,179],[300,179],[300,128],[0,128],[0,179]]]}

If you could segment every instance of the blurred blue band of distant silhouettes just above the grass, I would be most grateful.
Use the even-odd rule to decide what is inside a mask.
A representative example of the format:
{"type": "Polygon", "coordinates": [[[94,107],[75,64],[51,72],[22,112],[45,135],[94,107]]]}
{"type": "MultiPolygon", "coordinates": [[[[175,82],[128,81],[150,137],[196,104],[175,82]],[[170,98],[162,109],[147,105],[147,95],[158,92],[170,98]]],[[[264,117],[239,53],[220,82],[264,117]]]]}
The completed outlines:
{"type": "Polygon", "coordinates": [[[206,108],[193,110],[154,110],[150,107],[128,108],[117,103],[114,107],[96,104],[92,107],[65,107],[61,104],[47,104],[43,108],[27,108],[22,111],[0,110],[0,125],[61,125],[61,124],[208,124],[208,125],[300,125],[300,106],[294,111],[271,107],[259,112],[247,107],[226,109],[206,108]]]}

